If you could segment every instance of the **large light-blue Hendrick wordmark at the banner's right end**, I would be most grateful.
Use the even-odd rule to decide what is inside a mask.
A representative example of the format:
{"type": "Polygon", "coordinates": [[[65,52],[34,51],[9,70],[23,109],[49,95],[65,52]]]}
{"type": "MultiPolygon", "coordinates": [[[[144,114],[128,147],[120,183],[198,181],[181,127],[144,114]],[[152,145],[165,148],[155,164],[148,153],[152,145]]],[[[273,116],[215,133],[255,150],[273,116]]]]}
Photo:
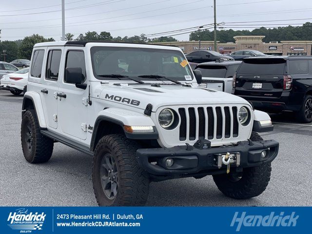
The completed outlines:
{"type": "Polygon", "coordinates": [[[275,215],[274,212],[271,212],[270,215],[246,215],[246,212],[242,212],[239,215],[239,212],[235,212],[231,227],[234,227],[237,223],[236,232],[240,230],[242,226],[244,227],[295,227],[297,224],[297,219],[299,215],[295,216],[295,212],[292,212],[291,215],[284,215],[284,212],[281,212],[279,215],[275,215]]]}

